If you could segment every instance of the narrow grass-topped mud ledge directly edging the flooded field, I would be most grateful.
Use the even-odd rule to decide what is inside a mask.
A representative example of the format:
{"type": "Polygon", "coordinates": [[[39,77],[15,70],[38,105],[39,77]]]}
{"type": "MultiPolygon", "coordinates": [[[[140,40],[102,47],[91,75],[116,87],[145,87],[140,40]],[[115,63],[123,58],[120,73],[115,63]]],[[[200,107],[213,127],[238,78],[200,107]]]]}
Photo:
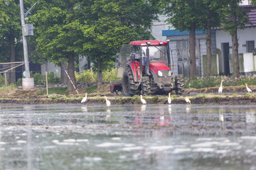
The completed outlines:
{"type": "MultiPolygon", "coordinates": [[[[112,105],[114,104],[140,104],[139,96],[108,96],[108,100],[112,105]]],[[[191,104],[208,104],[208,105],[250,105],[256,103],[256,95],[254,94],[240,94],[240,95],[213,95],[213,94],[198,94],[196,96],[188,96],[191,104]]],[[[167,104],[167,96],[144,96],[147,104],[167,104]]],[[[51,104],[51,103],[80,103],[82,96],[29,96],[26,98],[2,97],[0,103],[20,103],[20,104],[51,104]]],[[[186,103],[184,96],[177,96],[171,99],[172,104],[186,103]]],[[[104,104],[104,96],[88,96],[86,104],[104,104]]]]}

